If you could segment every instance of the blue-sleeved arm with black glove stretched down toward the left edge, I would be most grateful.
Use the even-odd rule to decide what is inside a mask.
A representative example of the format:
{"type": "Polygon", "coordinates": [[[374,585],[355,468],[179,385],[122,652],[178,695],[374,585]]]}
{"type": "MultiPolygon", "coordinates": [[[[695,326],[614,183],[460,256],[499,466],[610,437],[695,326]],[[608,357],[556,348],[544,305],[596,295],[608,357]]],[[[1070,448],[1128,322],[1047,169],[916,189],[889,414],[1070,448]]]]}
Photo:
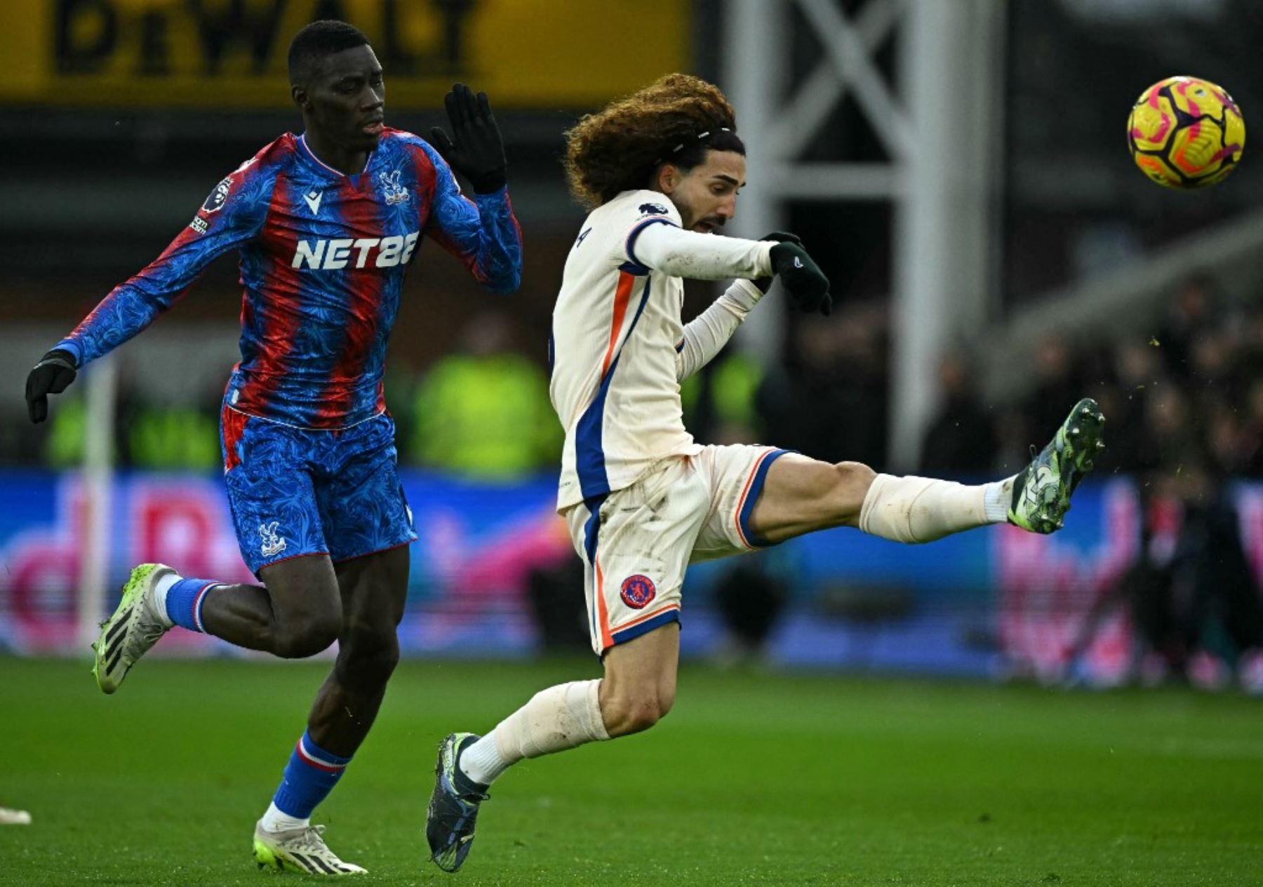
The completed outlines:
{"type": "Polygon", "coordinates": [[[59,394],[82,369],[153,323],[211,262],[255,236],[268,210],[273,178],[250,160],[221,181],[188,226],[144,269],[110,291],[92,312],[57,342],[27,377],[32,422],[48,416],[48,395],[59,394]]]}

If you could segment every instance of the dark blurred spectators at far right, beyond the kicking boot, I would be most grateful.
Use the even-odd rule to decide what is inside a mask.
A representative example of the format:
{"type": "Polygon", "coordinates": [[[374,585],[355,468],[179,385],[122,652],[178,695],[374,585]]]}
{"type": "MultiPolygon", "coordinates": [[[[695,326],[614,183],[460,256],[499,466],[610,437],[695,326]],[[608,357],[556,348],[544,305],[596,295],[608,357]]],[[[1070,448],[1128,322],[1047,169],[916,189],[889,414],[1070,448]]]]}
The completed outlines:
{"type": "Polygon", "coordinates": [[[1034,388],[995,406],[984,406],[962,355],[945,358],[923,470],[1012,471],[1077,398],[1100,403],[1108,450],[1096,468],[1138,481],[1140,555],[1086,603],[1060,673],[1081,672],[1122,610],[1134,637],[1124,680],[1220,689],[1235,676],[1263,692],[1263,569],[1245,550],[1234,485],[1263,476],[1263,307],[1194,277],[1152,331],[1084,346],[1050,336],[1033,356],[1034,388]]]}

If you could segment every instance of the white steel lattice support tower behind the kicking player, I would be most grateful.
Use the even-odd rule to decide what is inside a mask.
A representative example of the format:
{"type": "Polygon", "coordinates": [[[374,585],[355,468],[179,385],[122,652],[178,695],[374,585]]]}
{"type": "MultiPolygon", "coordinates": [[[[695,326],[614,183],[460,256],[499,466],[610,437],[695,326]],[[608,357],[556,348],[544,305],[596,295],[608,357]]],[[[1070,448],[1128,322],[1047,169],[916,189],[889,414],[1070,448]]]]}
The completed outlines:
{"type": "MultiPolygon", "coordinates": [[[[759,236],[779,227],[787,200],[897,206],[889,456],[895,468],[912,469],[936,406],[938,358],[980,331],[993,305],[1004,3],[869,0],[854,19],[835,0],[731,0],[725,9],[724,82],[750,158],[735,231],[759,236]],[[793,8],[825,56],[782,97],[793,8]],[[901,42],[902,95],[874,59],[892,33],[901,42]],[[847,91],[890,159],[798,159],[847,91]]],[[[781,341],[779,315],[772,315],[764,312],[745,340],[767,359],[781,341]]]]}

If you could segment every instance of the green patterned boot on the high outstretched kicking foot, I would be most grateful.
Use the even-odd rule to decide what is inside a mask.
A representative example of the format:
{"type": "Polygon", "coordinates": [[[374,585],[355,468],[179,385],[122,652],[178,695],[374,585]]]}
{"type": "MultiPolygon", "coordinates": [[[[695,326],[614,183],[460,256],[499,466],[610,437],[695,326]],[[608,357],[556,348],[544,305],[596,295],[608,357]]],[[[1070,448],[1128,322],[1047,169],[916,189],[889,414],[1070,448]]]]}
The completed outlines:
{"type": "Polygon", "coordinates": [[[1075,404],[1052,441],[1013,480],[1009,523],[1032,533],[1052,533],[1063,526],[1070,497],[1092,470],[1092,460],[1105,449],[1105,416],[1090,397],[1075,404]]]}

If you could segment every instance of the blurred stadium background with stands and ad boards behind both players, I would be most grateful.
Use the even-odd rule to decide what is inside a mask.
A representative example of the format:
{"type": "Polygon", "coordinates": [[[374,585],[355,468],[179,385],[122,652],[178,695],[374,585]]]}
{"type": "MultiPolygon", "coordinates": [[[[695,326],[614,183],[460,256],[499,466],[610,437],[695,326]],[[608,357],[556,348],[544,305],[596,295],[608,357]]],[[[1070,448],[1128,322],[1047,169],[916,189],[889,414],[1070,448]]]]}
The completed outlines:
{"type": "MultiPolygon", "coordinates": [[[[417,656],[585,649],[581,570],[552,513],[546,342],[582,219],[562,131],[671,71],[738,109],[731,227],[798,232],[830,318],[777,291],[685,385],[703,442],[878,469],[1018,470],[1081,395],[1109,451],[1065,532],[901,548],[836,531],[690,574],[687,656],[1113,685],[1263,690],[1263,166],[1158,188],[1124,123],[1171,75],[1259,125],[1250,0],[9,0],[0,11],[0,652],[83,652],[130,565],[249,580],[217,407],[235,256],[25,417],[28,369],[154,258],[220,178],[299,125],[284,53],[346,18],[386,69],[386,123],[486,90],[525,238],[522,291],[426,245],[386,398],[421,541],[417,656]]],[[[690,288],[692,316],[715,289],[690,288]]],[[[222,655],[173,632],[159,648],[222,655]]],[[[0,799],[3,800],[3,799],[0,799]]]]}

